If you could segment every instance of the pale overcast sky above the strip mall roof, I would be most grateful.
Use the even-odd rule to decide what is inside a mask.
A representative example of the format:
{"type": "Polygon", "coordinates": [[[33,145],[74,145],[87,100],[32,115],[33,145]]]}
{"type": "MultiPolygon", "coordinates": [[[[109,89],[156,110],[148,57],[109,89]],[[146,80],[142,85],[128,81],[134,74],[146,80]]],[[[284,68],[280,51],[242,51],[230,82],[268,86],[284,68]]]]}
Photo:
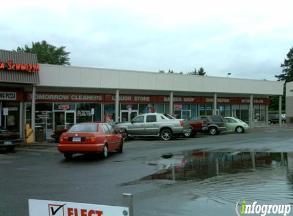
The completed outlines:
{"type": "Polygon", "coordinates": [[[293,1],[3,1],[0,49],[47,40],[72,66],[275,80],[293,1]],[[240,2],[240,3],[239,3],[240,2]]]}

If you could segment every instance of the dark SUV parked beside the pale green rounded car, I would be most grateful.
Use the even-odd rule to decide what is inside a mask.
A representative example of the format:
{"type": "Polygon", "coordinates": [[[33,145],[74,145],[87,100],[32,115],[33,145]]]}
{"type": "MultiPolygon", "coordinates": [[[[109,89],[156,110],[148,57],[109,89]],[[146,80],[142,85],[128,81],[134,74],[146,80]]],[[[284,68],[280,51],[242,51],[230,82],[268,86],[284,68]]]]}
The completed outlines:
{"type": "Polygon", "coordinates": [[[212,116],[198,116],[193,117],[194,120],[202,120],[205,122],[201,132],[209,133],[210,135],[217,135],[221,131],[226,131],[226,125],[223,117],[212,115],[212,116]]]}

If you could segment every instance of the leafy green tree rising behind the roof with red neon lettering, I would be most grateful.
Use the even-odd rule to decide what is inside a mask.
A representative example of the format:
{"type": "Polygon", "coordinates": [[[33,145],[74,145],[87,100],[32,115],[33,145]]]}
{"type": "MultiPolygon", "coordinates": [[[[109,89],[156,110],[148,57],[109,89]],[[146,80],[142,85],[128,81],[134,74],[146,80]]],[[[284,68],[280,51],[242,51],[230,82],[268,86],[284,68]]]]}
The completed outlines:
{"type": "MultiPolygon", "coordinates": [[[[34,53],[38,56],[38,63],[70,65],[69,52],[65,51],[66,47],[55,47],[47,43],[46,40],[41,42],[32,42],[32,47],[25,45],[25,48],[17,47],[17,52],[34,53]]],[[[15,50],[13,50],[15,51],[15,50]]]]}

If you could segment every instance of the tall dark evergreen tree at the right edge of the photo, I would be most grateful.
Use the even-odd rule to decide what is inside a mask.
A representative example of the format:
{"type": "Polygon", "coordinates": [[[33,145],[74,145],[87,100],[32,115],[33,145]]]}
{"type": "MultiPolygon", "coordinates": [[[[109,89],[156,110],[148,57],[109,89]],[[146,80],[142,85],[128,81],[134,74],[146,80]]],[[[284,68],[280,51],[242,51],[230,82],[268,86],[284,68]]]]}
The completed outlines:
{"type": "Polygon", "coordinates": [[[278,81],[285,81],[285,83],[293,81],[293,47],[287,53],[287,58],[284,59],[281,68],[283,68],[282,73],[275,75],[278,81]]]}

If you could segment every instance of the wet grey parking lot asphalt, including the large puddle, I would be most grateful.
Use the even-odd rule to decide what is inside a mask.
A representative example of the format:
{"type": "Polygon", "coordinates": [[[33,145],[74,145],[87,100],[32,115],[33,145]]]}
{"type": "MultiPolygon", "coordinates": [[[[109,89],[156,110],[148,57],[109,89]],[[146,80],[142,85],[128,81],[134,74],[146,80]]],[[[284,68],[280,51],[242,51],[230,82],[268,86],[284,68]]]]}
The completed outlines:
{"type": "MultiPolygon", "coordinates": [[[[122,206],[134,215],[236,215],[237,200],[290,203],[293,128],[135,139],[124,153],[75,155],[53,142],[0,149],[0,215],[29,215],[28,199],[122,206]]],[[[80,215],[76,215],[80,216],[80,215]]]]}

